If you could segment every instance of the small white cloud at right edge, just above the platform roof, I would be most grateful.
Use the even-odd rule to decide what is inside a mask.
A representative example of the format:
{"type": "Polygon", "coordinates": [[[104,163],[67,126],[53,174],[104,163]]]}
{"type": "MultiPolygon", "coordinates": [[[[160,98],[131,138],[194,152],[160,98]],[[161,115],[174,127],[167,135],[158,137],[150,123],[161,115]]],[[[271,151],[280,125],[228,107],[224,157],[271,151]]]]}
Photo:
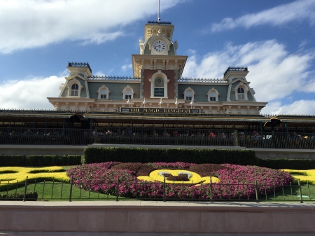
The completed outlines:
{"type": "Polygon", "coordinates": [[[262,109],[262,114],[314,115],[315,100],[299,100],[292,104],[281,106],[280,102],[271,102],[262,109]]]}

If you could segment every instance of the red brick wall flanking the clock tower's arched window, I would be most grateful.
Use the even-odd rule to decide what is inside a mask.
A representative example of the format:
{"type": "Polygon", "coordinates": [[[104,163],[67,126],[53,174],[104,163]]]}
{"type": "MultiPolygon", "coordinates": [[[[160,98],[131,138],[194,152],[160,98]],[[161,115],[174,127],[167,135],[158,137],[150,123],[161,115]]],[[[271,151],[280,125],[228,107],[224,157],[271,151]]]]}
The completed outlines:
{"type": "MultiPolygon", "coordinates": [[[[144,70],[144,98],[150,98],[151,96],[151,82],[149,79],[158,72],[157,70],[150,70],[150,69],[145,69],[144,70]]],[[[175,72],[174,70],[169,70],[169,71],[162,71],[167,76],[167,79],[169,79],[169,83],[167,85],[167,95],[169,98],[174,99],[175,97],[175,72]]]]}

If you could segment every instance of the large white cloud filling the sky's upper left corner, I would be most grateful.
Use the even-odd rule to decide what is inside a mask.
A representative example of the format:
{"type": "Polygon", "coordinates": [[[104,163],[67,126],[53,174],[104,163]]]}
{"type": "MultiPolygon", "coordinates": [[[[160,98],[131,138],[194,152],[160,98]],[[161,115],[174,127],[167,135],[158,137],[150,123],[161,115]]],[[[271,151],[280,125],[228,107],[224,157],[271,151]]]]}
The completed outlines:
{"type": "MultiPolygon", "coordinates": [[[[161,11],[179,0],[167,0],[161,11]]],[[[156,14],[157,1],[0,0],[0,53],[61,41],[103,43],[125,25],[156,14]]]]}

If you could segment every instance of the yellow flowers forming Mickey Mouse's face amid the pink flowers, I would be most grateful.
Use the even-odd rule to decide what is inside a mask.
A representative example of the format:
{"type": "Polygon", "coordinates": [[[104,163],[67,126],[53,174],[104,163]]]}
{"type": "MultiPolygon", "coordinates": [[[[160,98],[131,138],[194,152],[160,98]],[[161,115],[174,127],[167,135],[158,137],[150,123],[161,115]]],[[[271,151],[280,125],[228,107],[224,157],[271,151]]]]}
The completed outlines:
{"type": "MultiPolygon", "coordinates": [[[[163,174],[172,174],[173,176],[178,176],[179,174],[187,174],[189,181],[172,181],[165,179],[165,183],[210,183],[210,176],[202,177],[195,172],[190,172],[189,170],[184,169],[157,169],[149,174],[149,176],[138,176],[138,179],[144,181],[160,181],[164,182],[163,174]]],[[[212,177],[212,183],[217,183],[220,180],[216,177],[212,177]]]]}

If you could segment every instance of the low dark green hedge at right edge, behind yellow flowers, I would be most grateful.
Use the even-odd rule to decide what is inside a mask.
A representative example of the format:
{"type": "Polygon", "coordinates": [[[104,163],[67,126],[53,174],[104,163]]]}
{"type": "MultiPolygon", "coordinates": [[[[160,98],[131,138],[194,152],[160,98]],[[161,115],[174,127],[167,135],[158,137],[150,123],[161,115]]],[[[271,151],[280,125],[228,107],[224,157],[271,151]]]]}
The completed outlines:
{"type": "Polygon", "coordinates": [[[313,159],[259,159],[260,167],[272,169],[315,169],[313,159]]]}

